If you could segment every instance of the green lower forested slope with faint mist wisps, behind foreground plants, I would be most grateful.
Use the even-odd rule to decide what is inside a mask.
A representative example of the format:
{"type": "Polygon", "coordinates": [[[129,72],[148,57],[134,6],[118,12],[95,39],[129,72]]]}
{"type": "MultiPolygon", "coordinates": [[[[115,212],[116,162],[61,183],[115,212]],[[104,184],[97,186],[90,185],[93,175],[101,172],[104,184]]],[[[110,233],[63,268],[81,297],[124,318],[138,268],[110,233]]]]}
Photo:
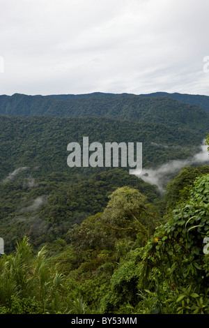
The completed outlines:
{"type": "MultiPolygon", "coordinates": [[[[56,239],[69,243],[66,233],[72,225],[103,211],[112,191],[126,184],[144,190],[149,202],[160,200],[154,186],[118,168],[86,179],[52,173],[34,179],[33,186],[25,186],[24,181],[25,177],[17,177],[0,185],[0,230],[7,252],[13,251],[15,241],[24,235],[30,235],[36,248],[56,239]],[[40,200],[40,206],[33,207],[36,200],[40,200]]],[[[54,250],[50,248],[50,254],[55,249],[60,251],[59,248],[61,245],[56,244],[54,250]]]]}

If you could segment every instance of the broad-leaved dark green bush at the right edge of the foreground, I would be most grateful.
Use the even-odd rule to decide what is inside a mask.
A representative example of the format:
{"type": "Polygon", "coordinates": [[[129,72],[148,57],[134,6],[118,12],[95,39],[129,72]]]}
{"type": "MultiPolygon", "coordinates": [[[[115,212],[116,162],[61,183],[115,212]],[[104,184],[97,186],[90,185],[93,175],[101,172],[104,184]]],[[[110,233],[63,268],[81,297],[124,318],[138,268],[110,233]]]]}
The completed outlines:
{"type": "Polygon", "coordinates": [[[173,210],[167,223],[157,227],[144,253],[144,269],[160,270],[158,279],[172,286],[176,293],[173,309],[179,313],[209,311],[208,254],[203,253],[203,239],[208,237],[209,230],[208,195],[209,174],[206,174],[194,182],[189,200],[173,210]],[[181,307],[177,307],[179,301],[181,307]]]}

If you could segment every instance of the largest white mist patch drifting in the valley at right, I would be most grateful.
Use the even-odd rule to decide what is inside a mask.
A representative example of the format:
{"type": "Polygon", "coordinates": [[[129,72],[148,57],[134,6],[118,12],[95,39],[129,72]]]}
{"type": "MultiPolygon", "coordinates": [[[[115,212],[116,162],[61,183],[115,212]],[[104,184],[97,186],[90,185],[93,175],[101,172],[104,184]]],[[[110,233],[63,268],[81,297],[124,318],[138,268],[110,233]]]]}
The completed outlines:
{"type": "Polygon", "coordinates": [[[201,151],[194,154],[191,158],[185,160],[174,160],[169,161],[168,163],[163,164],[156,169],[144,169],[141,174],[136,174],[137,177],[140,177],[148,184],[153,184],[157,186],[160,193],[165,192],[165,185],[169,182],[169,174],[177,173],[182,167],[187,165],[206,163],[209,165],[209,156],[208,156],[208,147],[205,144],[206,140],[203,140],[201,144],[201,151]]]}

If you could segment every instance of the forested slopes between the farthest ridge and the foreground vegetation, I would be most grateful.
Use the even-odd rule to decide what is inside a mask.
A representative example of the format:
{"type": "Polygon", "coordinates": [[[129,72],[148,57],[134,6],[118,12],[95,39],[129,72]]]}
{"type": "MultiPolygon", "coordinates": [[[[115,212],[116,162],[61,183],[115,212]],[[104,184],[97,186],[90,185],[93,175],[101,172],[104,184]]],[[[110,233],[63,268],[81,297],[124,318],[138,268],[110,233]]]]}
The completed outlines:
{"type": "Polygon", "coordinates": [[[160,202],[157,189],[130,176],[129,167],[119,164],[119,172],[114,167],[68,167],[69,142],[82,145],[83,136],[89,136],[89,143],[103,145],[142,142],[143,167],[153,167],[192,156],[206,137],[160,123],[90,117],[1,115],[0,128],[0,230],[6,250],[12,250],[15,239],[29,233],[31,227],[37,245],[61,237],[73,223],[102,211],[107,196],[124,185],[134,186],[152,202],[160,202]]]}

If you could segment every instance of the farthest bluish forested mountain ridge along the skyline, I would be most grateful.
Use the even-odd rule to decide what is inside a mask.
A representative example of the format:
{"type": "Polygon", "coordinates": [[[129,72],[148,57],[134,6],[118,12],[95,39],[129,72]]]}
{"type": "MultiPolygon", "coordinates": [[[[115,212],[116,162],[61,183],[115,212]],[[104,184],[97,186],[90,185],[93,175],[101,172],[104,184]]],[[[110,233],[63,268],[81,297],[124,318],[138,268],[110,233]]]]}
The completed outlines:
{"type": "Polygon", "coordinates": [[[109,117],[169,124],[178,128],[206,131],[209,114],[196,105],[166,97],[95,94],[60,100],[50,96],[0,96],[0,113],[20,116],[109,117]]]}

